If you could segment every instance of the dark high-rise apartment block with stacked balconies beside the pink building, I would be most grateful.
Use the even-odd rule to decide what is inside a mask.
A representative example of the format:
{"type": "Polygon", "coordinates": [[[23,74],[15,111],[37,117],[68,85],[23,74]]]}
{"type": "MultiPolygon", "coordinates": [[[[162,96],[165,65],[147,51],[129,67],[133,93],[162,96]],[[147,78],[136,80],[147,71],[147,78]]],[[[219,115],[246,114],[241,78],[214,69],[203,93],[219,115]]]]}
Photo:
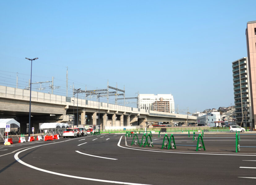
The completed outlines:
{"type": "Polygon", "coordinates": [[[252,124],[247,57],[232,62],[236,125],[252,124]],[[246,110],[246,111],[245,111],[246,110]],[[245,114],[246,112],[246,114],[245,114]]]}

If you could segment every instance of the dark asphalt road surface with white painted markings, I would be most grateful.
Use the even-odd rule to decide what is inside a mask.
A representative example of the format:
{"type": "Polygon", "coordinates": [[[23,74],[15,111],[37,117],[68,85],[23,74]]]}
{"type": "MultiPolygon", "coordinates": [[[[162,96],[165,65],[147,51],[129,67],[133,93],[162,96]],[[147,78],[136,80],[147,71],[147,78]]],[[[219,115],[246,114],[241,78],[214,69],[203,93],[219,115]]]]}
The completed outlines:
{"type": "MultiPolygon", "coordinates": [[[[139,136],[141,139],[141,136],[139,136]]],[[[176,145],[196,145],[175,136],[176,145]]],[[[132,138],[102,134],[0,146],[0,184],[256,184],[256,148],[236,153],[235,134],[205,134],[206,150],[131,145],[132,138]]],[[[242,135],[241,146],[256,146],[242,135]]]]}

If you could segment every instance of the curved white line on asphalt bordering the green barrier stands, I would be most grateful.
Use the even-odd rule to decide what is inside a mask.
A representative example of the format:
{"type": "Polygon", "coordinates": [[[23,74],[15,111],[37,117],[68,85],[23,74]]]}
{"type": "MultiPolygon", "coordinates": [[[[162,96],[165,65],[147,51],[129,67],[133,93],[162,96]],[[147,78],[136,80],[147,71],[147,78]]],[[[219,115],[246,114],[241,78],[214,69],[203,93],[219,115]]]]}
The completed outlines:
{"type": "Polygon", "coordinates": [[[202,154],[202,155],[234,155],[234,156],[256,156],[256,155],[250,155],[250,154],[209,154],[209,153],[190,153],[190,152],[173,152],[173,151],[157,151],[156,149],[137,149],[135,147],[132,146],[128,146],[127,142],[126,142],[126,138],[125,138],[125,146],[128,146],[130,148],[124,147],[124,146],[120,146],[120,142],[123,136],[120,137],[119,142],[117,144],[117,146],[121,147],[121,148],[126,148],[126,149],[130,149],[130,150],[142,150],[142,151],[148,151],[148,152],[162,152],[162,153],[174,153],[174,154],[202,154]]]}

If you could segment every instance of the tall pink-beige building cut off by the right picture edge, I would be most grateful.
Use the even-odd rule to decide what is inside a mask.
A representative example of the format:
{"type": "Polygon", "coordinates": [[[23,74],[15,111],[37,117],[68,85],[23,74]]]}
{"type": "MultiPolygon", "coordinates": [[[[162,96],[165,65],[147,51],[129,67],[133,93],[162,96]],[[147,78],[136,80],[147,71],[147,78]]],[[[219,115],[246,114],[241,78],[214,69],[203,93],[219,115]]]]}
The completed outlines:
{"type": "Polygon", "coordinates": [[[250,104],[251,104],[251,128],[255,128],[256,120],[256,21],[247,23],[246,28],[246,45],[248,57],[248,72],[249,72],[249,86],[250,86],[250,104]]]}

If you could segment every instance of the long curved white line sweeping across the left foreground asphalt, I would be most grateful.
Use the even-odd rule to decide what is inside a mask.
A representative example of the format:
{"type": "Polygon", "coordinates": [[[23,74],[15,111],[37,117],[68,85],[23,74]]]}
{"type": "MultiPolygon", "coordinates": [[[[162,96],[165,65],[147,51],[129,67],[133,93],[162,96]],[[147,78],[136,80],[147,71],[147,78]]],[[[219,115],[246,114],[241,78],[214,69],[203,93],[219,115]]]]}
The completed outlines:
{"type": "MultiPolygon", "coordinates": [[[[68,140],[66,140],[66,141],[68,141],[68,140]]],[[[61,141],[61,142],[65,142],[65,141],[61,141]]],[[[49,144],[44,144],[44,145],[50,145],[50,144],[56,144],[56,143],[59,143],[59,142],[49,143],[49,144]]],[[[43,146],[43,145],[39,145],[39,146],[43,146]]],[[[126,182],[111,181],[111,180],[102,180],[102,179],[92,179],[92,178],[87,178],[87,177],[78,177],[78,176],[74,176],[74,175],[61,174],[61,173],[57,173],[57,172],[54,172],[54,171],[48,171],[48,170],[44,170],[44,169],[41,169],[41,168],[34,167],[34,166],[32,166],[32,165],[30,165],[30,164],[28,164],[28,163],[23,162],[23,161],[20,160],[20,158],[18,157],[18,155],[19,155],[21,152],[24,152],[24,151],[26,151],[26,150],[29,150],[29,149],[32,149],[32,148],[36,148],[36,147],[39,147],[39,146],[33,146],[33,147],[29,147],[28,149],[19,151],[19,152],[17,152],[17,153],[14,155],[14,158],[16,159],[16,161],[20,162],[21,164],[23,164],[23,165],[25,165],[25,166],[27,166],[27,167],[33,168],[33,169],[38,170],[38,171],[43,171],[43,172],[46,172],[46,173],[50,173],[50,174],[54,174],[54,175],[60,175],[60,176],[64,176],[64,177],[71,177],[71,178],[75,178],[75,179],[84,179],[84,180],[92,180],[92,181],[105,182],[105,183],[115,183],[115,184],[150,185],[150,184],[126,183],[126,182]]]]}

